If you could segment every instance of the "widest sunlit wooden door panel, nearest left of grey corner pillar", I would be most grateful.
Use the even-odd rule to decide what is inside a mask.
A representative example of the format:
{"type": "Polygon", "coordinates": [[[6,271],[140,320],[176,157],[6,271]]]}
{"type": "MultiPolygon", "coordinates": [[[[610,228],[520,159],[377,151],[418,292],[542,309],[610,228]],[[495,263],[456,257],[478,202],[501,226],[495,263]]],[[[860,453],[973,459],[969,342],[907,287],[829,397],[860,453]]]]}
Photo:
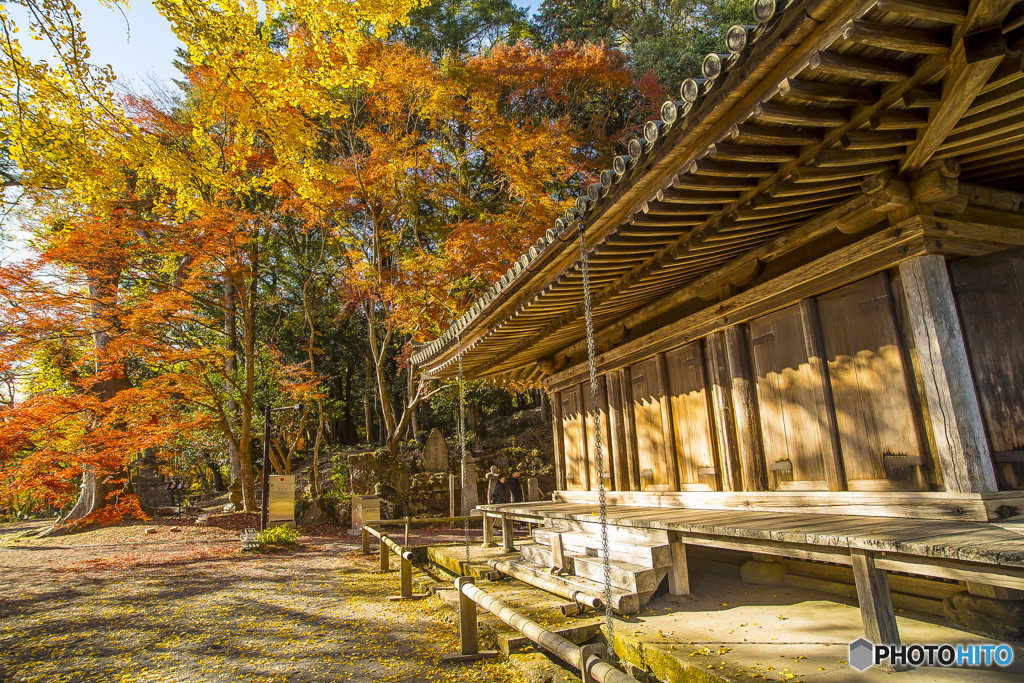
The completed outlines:
{"type": "Polygon", "coordinates": [[[818,310],[850,490],[925,487],[888,276],[820,296],[818,310]]]}

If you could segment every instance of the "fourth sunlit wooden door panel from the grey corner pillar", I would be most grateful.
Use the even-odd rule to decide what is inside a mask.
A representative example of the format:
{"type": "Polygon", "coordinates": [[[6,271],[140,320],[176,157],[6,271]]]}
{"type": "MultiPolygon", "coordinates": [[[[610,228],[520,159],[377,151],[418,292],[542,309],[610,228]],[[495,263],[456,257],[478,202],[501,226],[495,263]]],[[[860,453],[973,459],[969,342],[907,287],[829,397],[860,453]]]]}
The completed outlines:
{"type": "Polygon", "coordinates": [[[633,375],[633,416],[637,432],[637,460],[641,490],[672,490],[673,473],[665,447],[662,421],[662,381],[654,358],[631,368],[633,375]]]}

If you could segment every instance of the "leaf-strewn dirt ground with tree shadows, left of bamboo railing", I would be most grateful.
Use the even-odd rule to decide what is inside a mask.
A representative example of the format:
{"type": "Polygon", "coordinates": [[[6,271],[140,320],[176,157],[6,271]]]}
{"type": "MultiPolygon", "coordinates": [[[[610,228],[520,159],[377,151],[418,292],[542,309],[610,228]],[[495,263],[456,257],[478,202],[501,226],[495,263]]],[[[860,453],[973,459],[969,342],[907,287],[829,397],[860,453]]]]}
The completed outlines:
{"type": "Polygon", "coordinates": [[[439,664],[458,647],[450,610],[386,602],[397,573],[346,539],[243,555],[84,536],[0,549],[0,681],[518,680],[500,663],[439,664]]]}

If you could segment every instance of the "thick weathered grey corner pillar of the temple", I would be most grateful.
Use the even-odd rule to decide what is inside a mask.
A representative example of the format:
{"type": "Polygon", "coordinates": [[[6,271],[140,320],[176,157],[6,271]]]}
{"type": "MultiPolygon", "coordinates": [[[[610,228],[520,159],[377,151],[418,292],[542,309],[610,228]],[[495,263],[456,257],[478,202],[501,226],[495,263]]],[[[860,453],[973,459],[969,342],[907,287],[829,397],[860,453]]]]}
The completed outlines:
{"type": "Polygon", "coordinates": [[[900,263],[899,270],[946,490],[994,492],[995,472],[945,258],[918,256],[900,263]]]}

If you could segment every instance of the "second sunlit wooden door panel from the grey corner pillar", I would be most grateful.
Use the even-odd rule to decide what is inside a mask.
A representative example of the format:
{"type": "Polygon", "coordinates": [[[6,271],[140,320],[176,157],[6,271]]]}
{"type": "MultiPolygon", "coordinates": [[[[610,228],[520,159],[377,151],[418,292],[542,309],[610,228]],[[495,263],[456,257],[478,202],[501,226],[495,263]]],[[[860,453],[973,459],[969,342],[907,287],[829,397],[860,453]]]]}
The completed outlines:
{"type": "Polygon", "coordinates": [[[800,304],[751,322],[761,434],[771,488],[825,490],[824,405],[800,304]]]}

